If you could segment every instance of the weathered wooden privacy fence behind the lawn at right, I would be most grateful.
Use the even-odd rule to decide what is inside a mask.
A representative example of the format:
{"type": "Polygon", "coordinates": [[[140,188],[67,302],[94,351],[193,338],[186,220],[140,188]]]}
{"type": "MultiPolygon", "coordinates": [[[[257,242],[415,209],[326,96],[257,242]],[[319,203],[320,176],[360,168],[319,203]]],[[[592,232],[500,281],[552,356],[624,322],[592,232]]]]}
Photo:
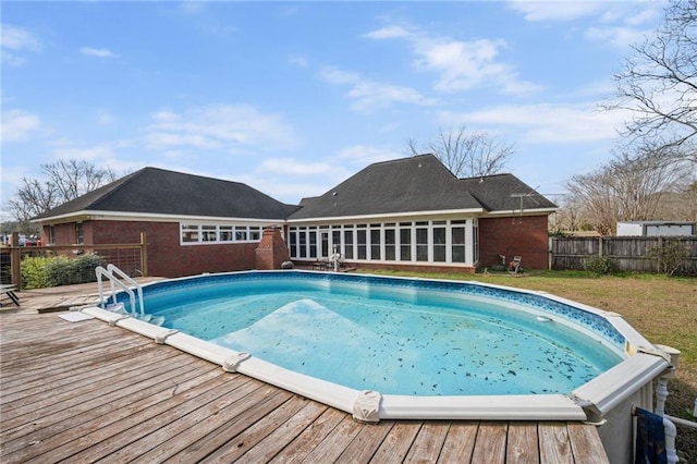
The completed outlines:
{"type": "Polygon", "coordinates": [[[687,249],[676,273],[697,274],[697,236],[554,236],[550,239],[550,268],[582,270],[589,259],[607,257],[621,271],[657,272],[659,262],[650,251],[668,242],[687,249]]]}

